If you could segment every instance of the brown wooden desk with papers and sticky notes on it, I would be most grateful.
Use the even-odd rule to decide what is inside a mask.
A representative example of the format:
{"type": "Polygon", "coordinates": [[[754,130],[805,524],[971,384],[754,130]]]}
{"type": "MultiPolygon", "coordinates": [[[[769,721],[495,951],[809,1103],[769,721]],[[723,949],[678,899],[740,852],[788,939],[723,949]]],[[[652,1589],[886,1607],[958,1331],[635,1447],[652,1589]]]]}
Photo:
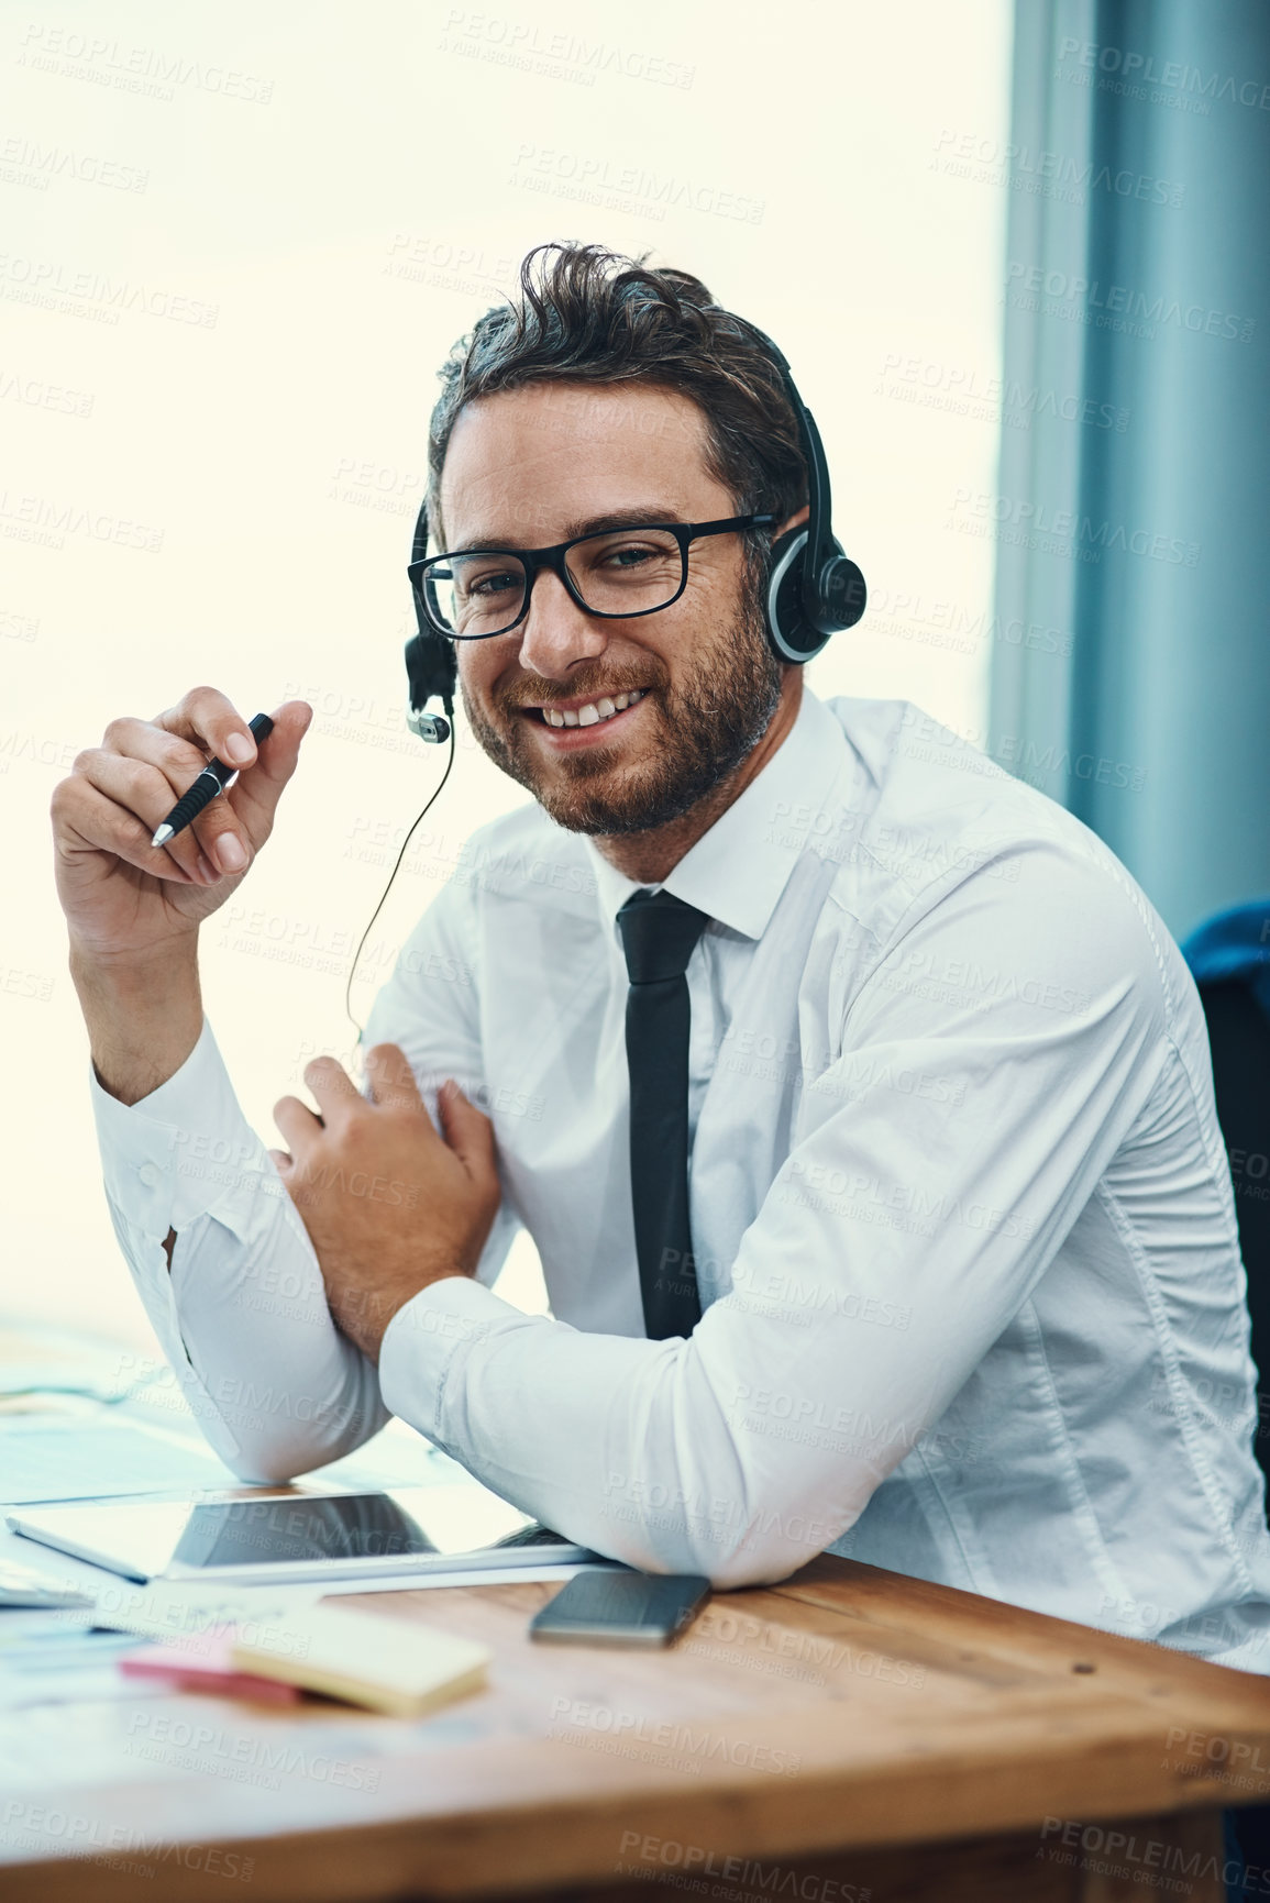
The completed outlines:
{"type": "Polygon", "coordinates": [[[497,1654],[411,1726],[11,1715],[0,1741],[57,1772],[0,1800],[0,1895],[1222,1903],[1220,1810],[1270,1800],[1270,1678],[836,1559],[655,1656],[531,1646],[554,1591],[373,1595],[497,1654]]]}

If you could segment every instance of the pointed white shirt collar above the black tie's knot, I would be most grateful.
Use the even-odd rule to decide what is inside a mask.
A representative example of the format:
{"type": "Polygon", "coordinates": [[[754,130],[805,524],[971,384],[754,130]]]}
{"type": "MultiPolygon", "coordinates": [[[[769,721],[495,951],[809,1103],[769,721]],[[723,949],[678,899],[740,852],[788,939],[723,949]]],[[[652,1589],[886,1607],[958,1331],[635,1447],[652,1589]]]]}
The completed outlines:
{"type": "MultiPolygon", "coordinates": [[[[847,754],[832,712],[804,681],[792,729],[744,792],[666,875],[674,898],[706,912],[744,938],[762,938],[805,845],[794,814],[828,797],[847,754]]],[[[613,923],[638,881],[609,866],[586,837],[602,917],[613,923]]]]}

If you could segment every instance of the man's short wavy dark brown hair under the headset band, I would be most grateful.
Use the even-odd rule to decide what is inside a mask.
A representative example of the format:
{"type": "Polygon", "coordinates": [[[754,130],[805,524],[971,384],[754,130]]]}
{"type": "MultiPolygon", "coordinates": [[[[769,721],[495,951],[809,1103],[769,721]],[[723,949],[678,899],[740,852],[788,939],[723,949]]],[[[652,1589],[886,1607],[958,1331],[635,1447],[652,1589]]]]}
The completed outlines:
{"type": "MultiPolygon", "coordinates": [[[[466,403],[527,383],[647,383],[680,390],[706,421],[706,466],[737,514],[784,521],[807,500],[807,466],[781,375],[701,278],[649,270],[598,244],[541,244],[520,266],[520,297],[487,310],[442,365],[428,428],[428,520],[466,403]]],[[[754,531],[752,531],[754,533],[754,531]]],[[[758,533],[752,554],[769,546],[758,533]]]]}

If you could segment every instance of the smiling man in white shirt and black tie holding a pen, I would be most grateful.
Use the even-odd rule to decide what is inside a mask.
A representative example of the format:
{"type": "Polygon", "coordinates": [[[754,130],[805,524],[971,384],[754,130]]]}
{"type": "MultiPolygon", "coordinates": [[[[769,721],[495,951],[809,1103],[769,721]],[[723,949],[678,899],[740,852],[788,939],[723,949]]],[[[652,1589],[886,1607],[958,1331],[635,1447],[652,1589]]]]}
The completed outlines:
{"type": "Polygon", "coordinates": [[[653,1572],[830,1547],[1270,1669],[1194,986],[1072,816],[777,658],[807,474],[771,360],[685,274],[543,247],[451,358],[430,470],[463,706],[533,803],[409,940],[369,1100],[318,1060],[267,1155],[202,1020],[198,923],[305,706],[257,754],[196,689],[55,797],[110,1207],[209,1441],[278,1481],[392,1412],[653,1572]],[[693,531],[682,571],[649,525],[693,531]],[[208,754],[242,778],[150,849],[208,754]],[[209,1146],[228,1180],[183,1168],[209,1146]],[[552,1317],[489,1288],[518,1224],[552,1317]],[[293,1406],[253,1414],[263,1387],[293,1406]]]}

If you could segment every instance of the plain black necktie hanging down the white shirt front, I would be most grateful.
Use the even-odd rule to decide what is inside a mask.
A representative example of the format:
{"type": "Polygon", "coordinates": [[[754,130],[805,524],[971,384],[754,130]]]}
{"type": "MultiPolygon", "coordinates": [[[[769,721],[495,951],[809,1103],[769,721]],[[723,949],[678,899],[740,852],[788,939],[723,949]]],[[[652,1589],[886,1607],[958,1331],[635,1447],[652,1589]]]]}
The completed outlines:
{"type": "Polygon", "coordinates": [[[617,913],[626,952],[630,1199],[644,1326],[651,1342],[701,1321],[687,1220],[687,961],[708,925],[670,893],[632,893],[617,913]]]}

